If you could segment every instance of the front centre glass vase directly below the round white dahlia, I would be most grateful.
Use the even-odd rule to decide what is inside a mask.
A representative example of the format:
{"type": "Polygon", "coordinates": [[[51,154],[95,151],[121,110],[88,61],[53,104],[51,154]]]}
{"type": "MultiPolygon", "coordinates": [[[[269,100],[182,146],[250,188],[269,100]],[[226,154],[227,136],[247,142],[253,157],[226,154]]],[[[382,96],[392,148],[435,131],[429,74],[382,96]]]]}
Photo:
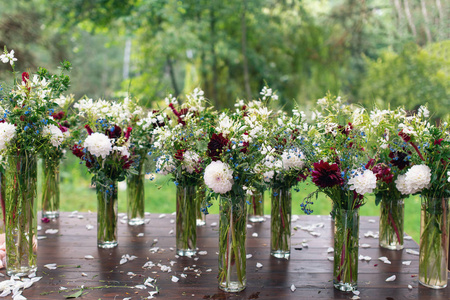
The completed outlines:
{"type": "Polygon", "coordinates": [[[220,198],[219,288],[240,292],[247,285],[247,204],[245,198],[220,198]]]}

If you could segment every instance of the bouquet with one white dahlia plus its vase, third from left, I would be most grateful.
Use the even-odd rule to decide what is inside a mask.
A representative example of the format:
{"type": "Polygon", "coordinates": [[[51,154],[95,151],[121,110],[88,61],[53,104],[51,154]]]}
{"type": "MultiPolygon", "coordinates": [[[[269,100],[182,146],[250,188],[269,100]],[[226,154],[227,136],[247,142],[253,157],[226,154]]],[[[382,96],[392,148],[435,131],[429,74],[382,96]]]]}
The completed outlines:
{"type": "Polygon", "coordinates": [[[125,180],[133,163],[130,154],[130,111],[123,103],[82,99],[74,105],[84,122],[85,134],[72,153],[93,174],[97,190],[97,245],[113,248],[117,242],[117,182],[125,180]]]}

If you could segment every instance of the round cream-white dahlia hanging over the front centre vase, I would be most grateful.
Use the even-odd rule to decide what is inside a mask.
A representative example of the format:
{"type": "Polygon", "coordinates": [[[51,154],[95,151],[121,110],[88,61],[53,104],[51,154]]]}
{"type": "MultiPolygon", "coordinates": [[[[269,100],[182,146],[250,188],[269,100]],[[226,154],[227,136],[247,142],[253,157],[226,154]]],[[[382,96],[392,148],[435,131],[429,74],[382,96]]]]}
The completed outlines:
{"type": "Polygon", "coordinates": [[[213,161],[205,168],[205,184],[214,193],[225,194],[233,187],[233,170],[228,164],[213,161]]]}

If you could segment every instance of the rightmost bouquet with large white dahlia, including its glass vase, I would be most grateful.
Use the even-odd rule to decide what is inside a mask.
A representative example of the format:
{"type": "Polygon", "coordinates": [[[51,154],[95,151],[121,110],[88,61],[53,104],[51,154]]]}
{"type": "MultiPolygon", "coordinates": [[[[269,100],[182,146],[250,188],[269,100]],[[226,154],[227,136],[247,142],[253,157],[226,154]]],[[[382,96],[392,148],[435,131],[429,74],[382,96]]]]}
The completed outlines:
{"type": "Polygon", "coordinates": [[[450,137],[449,126],[431,125],[428,110],[418,113],[399,125],[401,142],[398,149],[407,149],[414,164],[397,185],[403,194],[421,194],[419,282],[431,288],[444,288],[448,282],[450,137]]]}

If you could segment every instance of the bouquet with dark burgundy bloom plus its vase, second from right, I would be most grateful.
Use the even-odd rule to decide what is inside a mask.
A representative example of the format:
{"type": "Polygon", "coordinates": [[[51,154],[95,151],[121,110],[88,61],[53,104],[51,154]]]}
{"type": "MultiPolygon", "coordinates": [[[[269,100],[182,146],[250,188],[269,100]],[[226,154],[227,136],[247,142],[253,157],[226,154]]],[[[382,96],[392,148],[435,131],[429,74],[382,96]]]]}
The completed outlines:
{"type": "Polygon", "coordinates": [[[402,186],[397,183],[411,166],[411,151],[394,146],[402,142],[396,133],[406,118],[403,108],[393,111],[374,109],[370,113],[372,135],[377,139],[376,147],[372,149],[374,159],[370,168],[377,176],[375,204],[380,204],[379,244],[391,250],[403,249],[403,199],[408,195],[402,193],[402,186]]]}

